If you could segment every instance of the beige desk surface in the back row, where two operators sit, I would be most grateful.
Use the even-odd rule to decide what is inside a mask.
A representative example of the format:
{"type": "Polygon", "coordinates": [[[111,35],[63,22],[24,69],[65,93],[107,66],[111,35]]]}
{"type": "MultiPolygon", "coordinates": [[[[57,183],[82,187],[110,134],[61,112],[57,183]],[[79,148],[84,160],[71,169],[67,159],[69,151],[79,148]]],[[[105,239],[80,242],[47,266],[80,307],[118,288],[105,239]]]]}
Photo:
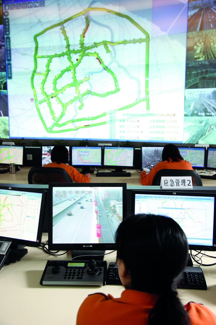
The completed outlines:
{"type": "MultiPolygon", "coordinates": [[[[28,172],[31,167],[20,167],[15,174],[0,174],[0,183],[28,184],[28,172]]],[[[127,185],[140,185],[140,173],[134,169],[128,170],[130,177],[97,177],[96,173],[91,174],[92,183],[127,183],[127,185]]],[[[214,179],[202,179],[203,186],[216,186],[214,179]]]]}

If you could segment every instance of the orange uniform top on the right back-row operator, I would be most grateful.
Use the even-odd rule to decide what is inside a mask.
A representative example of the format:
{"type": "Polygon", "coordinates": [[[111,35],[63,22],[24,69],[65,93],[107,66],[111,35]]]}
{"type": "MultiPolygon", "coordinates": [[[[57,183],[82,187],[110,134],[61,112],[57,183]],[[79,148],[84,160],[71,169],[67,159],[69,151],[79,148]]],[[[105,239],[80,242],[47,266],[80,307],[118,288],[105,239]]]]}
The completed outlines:
{"type": "Polygon", "coordinates": [[[172,159],[168,162],[167,160],[158,162],[147,175],[145,171],[140,173],[140,183],[141,185],[151,185],[154,176],[161,169],[186,169],[194,170],[191,163],[186,160],[180,160],[179,162],[173,162],[172,159]]]}

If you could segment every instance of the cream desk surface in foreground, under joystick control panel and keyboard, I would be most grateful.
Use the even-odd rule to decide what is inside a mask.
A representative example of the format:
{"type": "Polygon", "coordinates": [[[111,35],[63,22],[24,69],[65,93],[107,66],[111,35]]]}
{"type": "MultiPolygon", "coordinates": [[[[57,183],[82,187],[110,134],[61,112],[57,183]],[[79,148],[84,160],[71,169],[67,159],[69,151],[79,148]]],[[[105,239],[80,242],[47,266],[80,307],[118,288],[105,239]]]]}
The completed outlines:
{"type": "MultiPolygon", "coordinates": [[[[45,235],[43,236],[45,240],[45,235]]],[[[214,256],[216,256],[215,253],[214,256]]],[[[40,279],[48,259],[70,259],[69,253],[63,256],[51,256],[41,248],[28,248],[28,254],[20,262],[5,266],[0,271],[2,297],[1,325],[59,325],[76,324],[79,306],[86,296],[93,292],[111,293],[119,297],[122,286],[104,287],[48,287],[41,286],[40,279]]],[[[115,261],[115,253],[105,256],[107,263],[115,261]]],[[[205,258],[210,264],[212,259],[205,258]]],[[[202,267],[208,289],[179,290],[179,297],[186,304],[188,301],[201,303],[216,314],[216,266],[202,267]]],[[[87,322],[88,324],[88,322],[87,322]]]]}

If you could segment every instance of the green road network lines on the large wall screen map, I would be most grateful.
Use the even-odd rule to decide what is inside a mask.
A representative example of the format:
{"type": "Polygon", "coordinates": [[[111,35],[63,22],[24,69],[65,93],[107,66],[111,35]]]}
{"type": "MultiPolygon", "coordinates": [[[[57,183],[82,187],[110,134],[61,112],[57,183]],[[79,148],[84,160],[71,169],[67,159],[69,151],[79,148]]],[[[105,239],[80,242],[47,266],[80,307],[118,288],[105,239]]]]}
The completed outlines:
{"type": "Polygon", "coordinates": [[[103,46],[105,51],[107,53],[109,53],[109,52],[111,52],[110,49],[109,49],[109,47],[111,47],[111,46],[118,46],[120,44],[126,45],[126,44],[130,44],[130,43],[131,44],[136,44],[136,43],[141,44],[143,42],[146,43],[145,97],[137,99],[135,102],[132,102],[132,103],[130,103],[130,104],[124,106],[124,107],[120,107],[120,108],[116,109],[115,111],[130,109],[133,106],[137,105],[138,103],[144,102],[144,101],[146,102],[146,110],[149,110],[149,34],[136,21],[134,21],[129,16],[121,14],[121,13],[113,11],[113,10],[110,10],[110,9],[107,9],[107,8],[94,8],[94,7],[86,8],[86,9],[82,10],[81,12],[79,12],[79,13],[73,15],[73,16],[70,16],[67,19],[65,19],[65,20],[63,20],[63,21],[61,21],[59,23],[56,23],[56,24],[54,24],[54,25],[52,25],[50,27],[45,28],[42,32],[39,32],[39,33],[35,34],[34,35],[34,42],[35,42],[34,69],[33,69],[32,75],[31,75],[31,88],[32,88],[33,95],[34,95],[37,112],[39,114],[39,117],[41,119],[41,122],[42,122],[45,130],[48,133],[60,133],[60,132],[67,132],[67,131],[75,131],[75,130],[78,130],[78,129],[81,129],[81,128],[95,127],[95,126],[104,125],[104,124],[107,123],[107,122],[97,123],[97,121],[95,121],[95,120],[97,120],[97,119],[99,119],[101,117],[106,116],[107,115],[106,112],[102,112],[101,114],[99,114],[97,116],[93,116],[93,117],[82,117],[82,118],[77,118],[77,119],[71,119],[71,120],[68,120],[68,121],[66,121],[64,123],[60,122],[61,119],[64,117],[64,115],[66,113],[66,110],[67,110],[69,105],[71,105],[71,104],[78,101],[79,102],[78,110],[79,111],[82,110],[82,108],[84,106],[83,99],[85,99],[85,96],[92,95],[92,96],[105,98],[105,97],[107,97],[109,95],[113,95],[114,93],[117,93],[117,92],[120,91],[118,81],[117,81],[117,78],[116,78],[114,72],[105,65],[103,59],[100,57],[99,53],[97,52],[97,48],[99,46],[103,46]],[[99,12],[102,11],[102,12],[106,12],[106,13],[113,14],[113,15],[122,17],[124,19],[127,19],[145,35],[145,38],[139,38],[139,39],[133,39],[133,40],[122,40],[122,41],[117,41],[117,42],[110,42],[110,41],[104,41],[103,40],[101,42],[98,42],[98,43],[94,42],[92,45],[85,46],[84,39],[85,39],[85,34],[88,31],[88,28],[89,28],[89,25],[90,25],[90,19],[88,18],[88,13],[90,11],[99,11],[99,12]],[[80,16],[84,16],[84,18],[85,18],[85,27],[84,27],[84,29],[83,29],[83,31],[82,31],[82,33],[80,35],[80,39],[79,39],[80,48],[76,49],[76,50],[75,49],[71,50],[64,24],[66,22],[68,22],[70,20],[73,20],[75,18],[78,18],[80,16]],[[59,54],[55,53],[54,55],[46,55],[46,56],[38,55],[38,37],[40,37],[42,34],[48,32],[48,31],[51,31],[55,27],[60,27],[60,29],[61,29],[62,35],[63,35],[64,40],[66,42],[66,51],[62,52],[62,53],[59,53],[59,54]],[[94,52],[89,52],[90,50],[91,51],[94,50],[94,52]],[[72,59],[71,59],[72,54],[77,54],[78,55],[78,59],[76,60],[76,62],[72,61],[72,59]],[[51,71],[50,65],[51,65],[52,60],[54,58],[61,58],[61,57],[62,58],[67,57],[68,66],[54,77],[54,79],[53,79],[53,93],[52,94],[47,94],[45,89],[44,89],[44,85],[45,85],[45,83],[47,81],[47,78],[49,76],[49,72],[51,71]],[[95,59],[98,60],[99,64],[101,64],[102,68],[112,76],[113,81],[114,81],[114,90],[107,91],[107,92],[105,92],[103,94],[99,94],[97,92],[90,91],[90,90],[86,90],[85,92],[80,93],[80,85],[82,85],[84,82],[88,81],[89,77],[86,77],[83,80],[78,80],[76,78],[76,68],[79,66],[82,59],[85,58],[85,57],[95,57],[95,59]],[[47,58],[47,64],[46,64],[45,72],[38,72],[37,71],[37,59],[41,59],[41,58],[47,58]],[[72,76],[71,83],[65,85],[61,89],[57,89],[57,87],[56,87],[57,81],[63,76],[63,74],[65,72],[70,72],[71,73],[71,76],[72,76]],[[34,87],[34,77],[36,75],[40,75],[40,76],[43,77],[43,80],[42,80],[42,83],[41,83],[41,93],[43,94],[44,99],[41,99],[41,100],[38,100],[37,92],[36,92],[36,89],[34,87]],[[68,102],[63,103],[62,100],[60,99],[59,95],[61,95],[66,89],[69,89],[71,87],[75,87],[76,95],[74,96],[74,98],[70,99],[68,102]],[[59,114],[58,117],[56,116],[54,110],[52,109],[51,98],[55,98],[57,103],[62,108],[62,111],[61,111],[61,113],[59,114]],[[43,103],[46,103],[48,105],[49,113],[52,116],[53,123],[50,126],[46,125],[46,123],[45,123],[45,121],[44,121],[44,119],[42,117],[41,110],[39,108],[39,106],[41,104],[43,104],[43,103]],[[82,121],[83,121],[83,125],[79,125],[77,127],[68,128],[68,129],[61,129],[63,126],[66,126],[67,124],[82,122],[82,121]],[[96,123],[90,123],[91,121],[95,121],[96,123]],[[87,123],[87,125],[85,125],[86,123],[87,123]],[[56,128],[56,127],[58,128],[58,130],[56,130],[56,129],[54,130],[54,128],[56,128]]]}

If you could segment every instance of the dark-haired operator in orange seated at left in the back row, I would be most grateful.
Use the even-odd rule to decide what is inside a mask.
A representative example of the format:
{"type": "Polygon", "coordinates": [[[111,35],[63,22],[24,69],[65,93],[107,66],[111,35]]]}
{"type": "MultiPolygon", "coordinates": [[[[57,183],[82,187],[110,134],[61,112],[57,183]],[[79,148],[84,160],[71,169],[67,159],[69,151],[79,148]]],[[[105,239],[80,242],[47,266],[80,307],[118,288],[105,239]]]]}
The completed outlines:
{"type": "Polygon", "coordinates": [[[90,183],[90,173],[82,175],[72,166],[67,165],[69,160],[68,150],[65,146],[58,145],[53,147],[51,151],[51,163],[43,165],[43,167],[63,168],[70,175],[72,181],[76,183],[90,183]]]}

